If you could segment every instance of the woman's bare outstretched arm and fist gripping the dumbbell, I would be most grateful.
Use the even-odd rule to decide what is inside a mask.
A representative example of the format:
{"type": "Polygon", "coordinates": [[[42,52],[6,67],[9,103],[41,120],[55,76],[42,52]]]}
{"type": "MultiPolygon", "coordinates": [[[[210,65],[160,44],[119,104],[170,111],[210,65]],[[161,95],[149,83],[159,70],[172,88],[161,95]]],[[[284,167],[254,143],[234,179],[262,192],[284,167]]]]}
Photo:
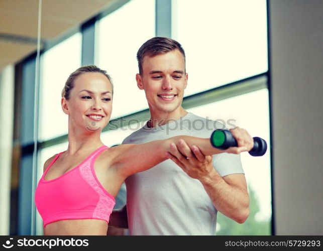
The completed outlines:
{"type": "MultiPolygon", "coordinates": [[[[244,129],[240,129],[247,132],[244,129]]],[[[125,178],[138,172],[145,171],[168,159],[166,153],[170,151],[171,144],[178,146],[180,140],[184,140],[189,147],[197,146],[203,155],[213,155],[219,153],[240,154],[249,151],[253,147],[253,139],[248,133],[233,134],[239,147],[232,147],[227,150],[214,148],[210,139],[197,138],[191,136],[176,136],[167,140],[152,141],[140,145],[122,145],[118,148],[118,155],[114,159],[113,166],[117,168],[125,178]]]]}

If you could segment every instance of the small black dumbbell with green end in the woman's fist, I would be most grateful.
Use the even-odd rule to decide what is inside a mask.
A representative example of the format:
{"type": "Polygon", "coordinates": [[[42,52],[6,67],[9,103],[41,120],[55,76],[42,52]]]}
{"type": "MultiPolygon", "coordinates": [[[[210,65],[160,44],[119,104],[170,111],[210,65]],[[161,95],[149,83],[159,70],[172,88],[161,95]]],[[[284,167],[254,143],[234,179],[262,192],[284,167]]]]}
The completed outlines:
{"type": "MultiPolygon", "coordinates": [[[[251,156],[263,156],[267,151],[267,143],[264,139],[254,137],[254,147],[249,151],[251,156]]],[[[228,130],[215,130],[211,135],[211,145],[221,150],[226,150],[230,147],[238,147],[236,139],[228,130]]]]}

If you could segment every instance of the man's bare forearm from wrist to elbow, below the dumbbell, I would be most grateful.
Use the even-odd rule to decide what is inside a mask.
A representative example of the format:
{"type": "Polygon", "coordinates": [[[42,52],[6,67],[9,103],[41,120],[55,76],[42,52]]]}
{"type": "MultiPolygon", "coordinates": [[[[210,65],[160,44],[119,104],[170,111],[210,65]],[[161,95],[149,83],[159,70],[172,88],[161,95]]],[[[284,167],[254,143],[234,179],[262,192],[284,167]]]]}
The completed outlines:
{"type": "Polygon", "coordinates": [[[246,221],[249,216],[249,195],[246,189],[228,184],[214,169],[200,182],[219,212],[238,223],[246,221]]]}

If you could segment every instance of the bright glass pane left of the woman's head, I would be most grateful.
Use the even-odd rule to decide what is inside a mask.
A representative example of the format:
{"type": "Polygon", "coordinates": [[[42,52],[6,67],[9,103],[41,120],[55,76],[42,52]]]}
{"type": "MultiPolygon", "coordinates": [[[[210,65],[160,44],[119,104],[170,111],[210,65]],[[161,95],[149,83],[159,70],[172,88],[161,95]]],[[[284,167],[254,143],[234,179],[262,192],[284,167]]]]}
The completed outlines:
{"type": "Polygon", "coordinates": [[[68,131],[61,109],[61,92],[69,74],[81,66],[81,34],[77,33],[44,53],[40,81],[39,139],[45,141],[68,131]]]}

